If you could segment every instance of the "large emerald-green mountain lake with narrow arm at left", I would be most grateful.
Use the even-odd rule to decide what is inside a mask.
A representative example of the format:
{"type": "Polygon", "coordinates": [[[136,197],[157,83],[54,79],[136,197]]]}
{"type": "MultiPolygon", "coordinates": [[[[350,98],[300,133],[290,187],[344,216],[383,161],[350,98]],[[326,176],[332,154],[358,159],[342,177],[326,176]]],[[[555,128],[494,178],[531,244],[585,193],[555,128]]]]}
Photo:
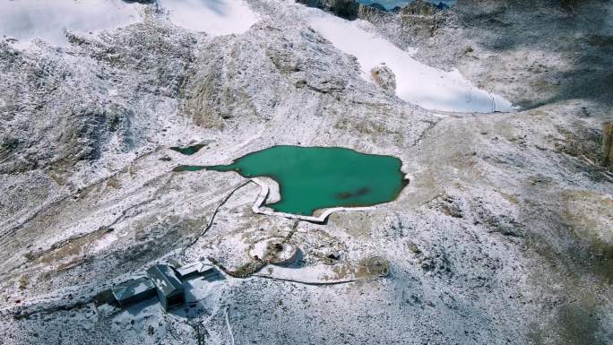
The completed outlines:
{"type": "Polygon", "coordinates": [[[330,207],[370,206],[393,201],[406,180],[401,160],[341,147],[273,146],[229,165],[179,166],[174,171],[235,171],[243,177],[271,177],[281,200],[275,211],[312,215],[330,207]]]}

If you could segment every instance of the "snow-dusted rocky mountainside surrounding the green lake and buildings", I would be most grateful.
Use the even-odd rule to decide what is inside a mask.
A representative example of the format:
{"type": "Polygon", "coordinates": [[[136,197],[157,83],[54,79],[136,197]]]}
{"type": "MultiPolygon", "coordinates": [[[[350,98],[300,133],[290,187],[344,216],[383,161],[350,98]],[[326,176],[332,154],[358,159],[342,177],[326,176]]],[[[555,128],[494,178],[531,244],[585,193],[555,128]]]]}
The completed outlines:
{"type": "Polygon", "coordinates": [[[276,0],[170,3],[117,3],[138,17],[68,26],[63,42],[0,32],[3,344],[613,343],[613,175],[598,163],[609,3],[467,0],[370,23],[276,0]],[[196,10],[237,25],[173,19],[196,10]],[[372,79],[364,38],[398,54],[373,62],[393,71],[395,93],[372,79]],[[430,78],[416,85],[411,71],[430,78]],[[522,108],[447,102],[457,85],[522,108]],[[192,156],[168,149],[194,143],[192,156]],[[275,144],[394,155],[410,185],[314,224],[255,214],[260,188],[236,174],[172,172],[275,144]],[[211,257],[233,270],[250,245],[289,235],[305,271],[278,278],[341,283],[263,268],[190,280],[190,303],[168,313],[92,302],[152,263],[211,257]],[[365,277],[372,256],[387,277],[343,282],[365,277]]]}

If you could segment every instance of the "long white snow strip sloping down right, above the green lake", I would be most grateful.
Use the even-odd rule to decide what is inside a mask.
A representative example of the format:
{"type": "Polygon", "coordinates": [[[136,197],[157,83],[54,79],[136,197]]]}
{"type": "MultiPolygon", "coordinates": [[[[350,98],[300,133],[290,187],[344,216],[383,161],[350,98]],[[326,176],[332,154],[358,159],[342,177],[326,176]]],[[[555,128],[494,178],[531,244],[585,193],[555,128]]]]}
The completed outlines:
{"type": "Polygon", "coordinates": [[[362,74],[371,80],[369,71],[385,63],[396,77],[396,95],[421,108],[490,113],[510,112],[516,108],[496,94],[479,90],[457,70],[445,72],[414,59],[412,52],[402,50],[373,32],[363,30],[365,21],[345,21],[331,14],[312,11],[309,25],[341,51],[356,56],[362,74]]]}

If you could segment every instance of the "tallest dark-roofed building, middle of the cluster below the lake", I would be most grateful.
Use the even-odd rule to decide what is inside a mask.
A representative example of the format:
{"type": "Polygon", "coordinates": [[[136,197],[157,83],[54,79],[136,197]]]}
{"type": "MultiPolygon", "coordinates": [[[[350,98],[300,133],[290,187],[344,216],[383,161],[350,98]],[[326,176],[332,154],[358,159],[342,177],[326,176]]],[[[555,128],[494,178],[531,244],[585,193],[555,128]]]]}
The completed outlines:
{"type": "Polygon", "coordinates": [[[156,264],[147,270],[147,275],[155,283],[160,298],[160,305],[167,311],[168,307],[185,302],[183,283],[178,279],[172,267],[156,264]]]}

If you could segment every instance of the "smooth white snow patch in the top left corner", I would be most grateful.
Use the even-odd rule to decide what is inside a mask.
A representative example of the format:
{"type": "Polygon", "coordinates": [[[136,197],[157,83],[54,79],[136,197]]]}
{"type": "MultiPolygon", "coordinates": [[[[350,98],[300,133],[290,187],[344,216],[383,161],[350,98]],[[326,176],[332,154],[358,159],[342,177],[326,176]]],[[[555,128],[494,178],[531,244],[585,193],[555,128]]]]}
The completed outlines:
{"type": "Polygon", "coordinates": [[[31,39],[66,46],[65,30],[95,34],[139,22],[142,5],[121,0],[0,1],[0,35],[28,47],[31,39]]]}

